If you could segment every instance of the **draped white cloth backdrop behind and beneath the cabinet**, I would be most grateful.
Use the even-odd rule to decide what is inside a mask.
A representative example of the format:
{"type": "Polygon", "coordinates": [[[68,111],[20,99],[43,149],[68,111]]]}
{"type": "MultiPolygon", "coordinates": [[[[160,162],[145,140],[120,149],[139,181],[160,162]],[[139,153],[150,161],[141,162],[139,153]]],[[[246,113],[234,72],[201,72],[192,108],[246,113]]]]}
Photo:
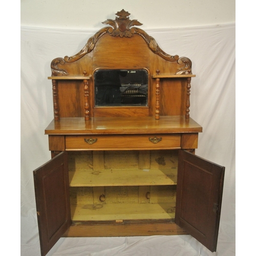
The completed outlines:
{"type": "MultiPolygon", "coordinates": [[[[141,27],[143,29],[143,26],[141,27]]],[[[190,116],[203,126],[196,154],[226,167],[217,252],[190,236],[61,238],[49,255],[234,255],[235,25],[145,29],[163,51],[186,56],[190,116]]],[[[50,63],[79,52],[96,30],[21,28],[21,254],[39,256],[32,172],[50,159],[44,130],[53,119],[50,63]]]]}

